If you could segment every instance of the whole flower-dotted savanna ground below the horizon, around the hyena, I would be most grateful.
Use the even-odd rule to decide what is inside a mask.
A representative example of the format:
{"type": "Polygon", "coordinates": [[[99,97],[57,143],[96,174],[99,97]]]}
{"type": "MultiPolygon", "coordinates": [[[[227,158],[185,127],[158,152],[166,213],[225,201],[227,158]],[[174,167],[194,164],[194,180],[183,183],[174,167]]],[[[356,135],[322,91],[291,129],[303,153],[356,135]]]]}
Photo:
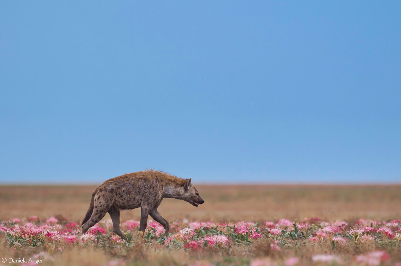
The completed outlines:
{"type": "Polygon", "coordinates": [[[74,223],[95,187],[0,186],[0,258],[44,259],[42,265],[401,265],[401,185],[196,185],[205,204],[165,199],[159,207],[171,224],[166,238],[151,221],[140,236],[140,210],[123,211],[128,242],[111,234],[108,214],[91,236],[80,236],[74,223]]]}

